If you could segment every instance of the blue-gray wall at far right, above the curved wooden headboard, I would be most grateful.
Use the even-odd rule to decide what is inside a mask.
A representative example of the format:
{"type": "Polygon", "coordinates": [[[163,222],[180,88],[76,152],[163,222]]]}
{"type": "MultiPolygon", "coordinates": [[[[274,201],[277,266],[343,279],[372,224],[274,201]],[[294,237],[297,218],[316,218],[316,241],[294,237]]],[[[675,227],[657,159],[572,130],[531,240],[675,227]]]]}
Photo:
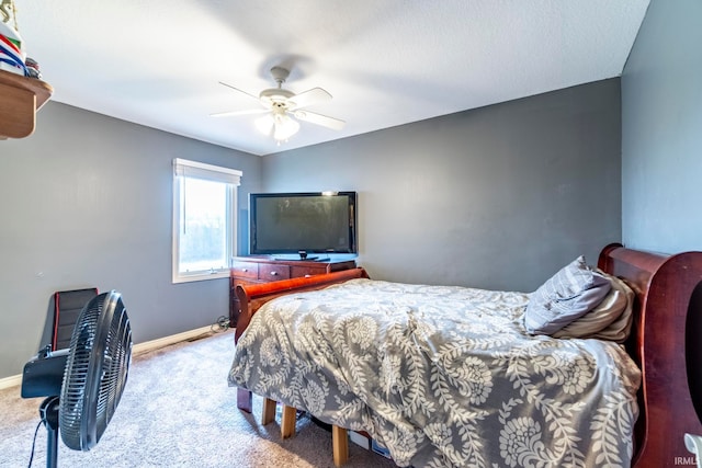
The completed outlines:
{"type": "Polygon", "coordinates": [[[622,75],[622,233],[702,250],[702,1],[652,0],[622,75]]]}

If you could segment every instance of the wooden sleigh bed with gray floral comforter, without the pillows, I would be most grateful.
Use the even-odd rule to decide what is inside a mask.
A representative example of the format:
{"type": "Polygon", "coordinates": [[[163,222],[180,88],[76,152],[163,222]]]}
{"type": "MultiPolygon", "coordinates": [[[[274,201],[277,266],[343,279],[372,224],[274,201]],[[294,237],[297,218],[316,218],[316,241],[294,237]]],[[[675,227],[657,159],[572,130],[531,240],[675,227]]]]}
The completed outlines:
{"type": "Polygon", "coordinates": [[[523,293],[371,282],[362,269],[242,286],[229,384],[242,410],[253,391],[369,433],[400,466],[690,463],[702,253],[610,244],[598,267],[631,289],[624,344],[524,333],[523,293]]]}

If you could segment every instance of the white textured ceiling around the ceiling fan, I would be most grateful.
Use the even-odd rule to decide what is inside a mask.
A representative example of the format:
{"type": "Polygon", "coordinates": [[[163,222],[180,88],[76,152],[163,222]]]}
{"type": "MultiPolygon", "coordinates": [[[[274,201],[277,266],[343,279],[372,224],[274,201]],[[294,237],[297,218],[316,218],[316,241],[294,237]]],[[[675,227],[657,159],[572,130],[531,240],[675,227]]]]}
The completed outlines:
{"type": "Polygon", "coordinates": [[[54,101],[268,155],[621,75],[648,0],[15,0],[54,101]],[[280,146],[250,94],[320,87],[280,146]]]}

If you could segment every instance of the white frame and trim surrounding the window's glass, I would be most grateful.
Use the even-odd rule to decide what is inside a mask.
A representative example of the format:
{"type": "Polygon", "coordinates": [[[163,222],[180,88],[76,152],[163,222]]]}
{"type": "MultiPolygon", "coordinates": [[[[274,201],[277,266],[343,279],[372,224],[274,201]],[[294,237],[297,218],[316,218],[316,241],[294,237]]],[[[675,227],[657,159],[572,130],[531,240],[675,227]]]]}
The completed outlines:
{"type": "MultiPolygon", "coordinates": [[[[172,252],[171,252],[171,281],[177,283],[190,283],[205,279],[218,279],[229,277],[231,259],[237,252],[237,207],[238,187],[241,184],[244,173],[236,169],[206,164],[204,162],[188,159],[173,159],[173,199],[172,199],[172,252]],[[181,179],[184,178],[184,179],[181,179]],[[195,272],[180,271],[180,221],[181,221],[181,181],[188,179],[201,179],[227,184],[227,265],[220,269],[199,270],[195,272]]],[[[186,183],[186,182],[185,182],[186,183]]]]}

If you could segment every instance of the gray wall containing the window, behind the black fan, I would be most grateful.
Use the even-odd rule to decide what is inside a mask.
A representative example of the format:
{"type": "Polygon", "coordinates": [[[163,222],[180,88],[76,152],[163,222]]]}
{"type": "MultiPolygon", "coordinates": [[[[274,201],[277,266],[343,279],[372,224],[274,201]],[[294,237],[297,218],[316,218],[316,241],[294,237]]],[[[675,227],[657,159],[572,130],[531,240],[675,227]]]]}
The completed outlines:
{"type": "Polygon", "coordinates": [[[135,342],[228,313],[228,281],[171,284],[172,159],[244,171],[261,158],[49,102],[29,138],[0,142],[0,378],[39,345],[55,290],[123,294],[135,342]]]}

